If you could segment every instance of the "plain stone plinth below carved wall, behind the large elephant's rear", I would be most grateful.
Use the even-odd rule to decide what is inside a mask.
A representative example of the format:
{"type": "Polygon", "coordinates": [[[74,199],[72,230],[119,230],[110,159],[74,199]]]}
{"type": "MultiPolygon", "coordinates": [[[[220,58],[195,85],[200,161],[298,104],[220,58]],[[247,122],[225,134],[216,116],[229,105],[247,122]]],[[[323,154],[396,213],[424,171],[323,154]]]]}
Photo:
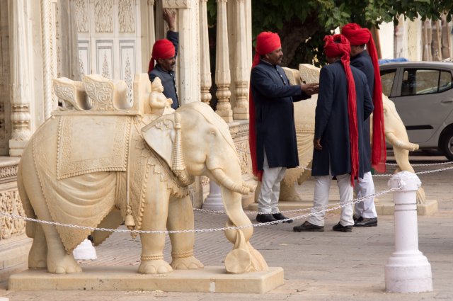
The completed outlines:
{"type": "Polygon", "coordinates": [[[0,281],[28,268],[28,251],[33,239],[25,236],[0,241],[0,281]]]}

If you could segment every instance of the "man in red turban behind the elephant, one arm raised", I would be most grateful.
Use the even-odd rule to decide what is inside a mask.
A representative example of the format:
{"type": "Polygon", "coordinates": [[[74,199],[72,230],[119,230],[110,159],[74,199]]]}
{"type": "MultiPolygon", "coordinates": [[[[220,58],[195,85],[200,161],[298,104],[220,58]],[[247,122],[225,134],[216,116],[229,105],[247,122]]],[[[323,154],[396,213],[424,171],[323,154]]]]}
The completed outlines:
{"type": "Polygon", "coordinates": [[[161,79],[162,86],[164,86],[163,93],[167,98],[173,100],[171,108],[176,110],[179,107],[175,79],[179,35],[175,32],[175,15],[175,11],[164,9],[164,20],[168,24],[167,38],[154,43],[149,60],[148,75],[151,82],[156,77],[161,79]]]}

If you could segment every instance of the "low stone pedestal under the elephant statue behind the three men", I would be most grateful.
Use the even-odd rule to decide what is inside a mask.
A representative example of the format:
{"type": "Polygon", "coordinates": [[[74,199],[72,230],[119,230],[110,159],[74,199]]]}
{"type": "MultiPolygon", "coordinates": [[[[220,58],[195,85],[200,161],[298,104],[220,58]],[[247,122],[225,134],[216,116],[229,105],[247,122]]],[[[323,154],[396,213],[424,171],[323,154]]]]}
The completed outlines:
{"type": "MultiPolygon", "coordinates": [[[[340,203],[340,200],[329,200],[329,207],[333,204],[340,203]]],[[[376,206],[377,215],[394,215],[394,202],[393,200],[375,200],[374,205],[376,206]]],[[[310,208],[313,207],[313,200],[302,200],[298,202],[285,201],[278,202],[278,208],[280,211],[285,210],[296,210],[296,209],[307,209],[306,211],[299,212],[297,215],[303,215],[310,212],[310,208]]],[[[258,203],[252,203],[248,205],[248,210],[257,211],[258,203]]],[[[331,213],[340,213],[340,209],[330,211],[331,213]]],[[[418,215],[432,215],[437,212],[437,200],[426,200],[425,204],[417,204],[418,215]]]]}

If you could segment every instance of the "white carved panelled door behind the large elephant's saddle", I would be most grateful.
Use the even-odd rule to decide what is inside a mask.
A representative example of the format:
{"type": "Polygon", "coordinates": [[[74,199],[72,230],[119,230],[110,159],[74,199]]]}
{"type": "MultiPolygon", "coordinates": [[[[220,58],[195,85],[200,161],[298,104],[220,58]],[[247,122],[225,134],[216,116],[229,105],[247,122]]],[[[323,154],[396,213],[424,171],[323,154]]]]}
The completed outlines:
{"type": "MultiPolygon", "coordinates": [[[[132,101],[134,74],[144,72],[139,0],[74,1],[80,72],[122,79],[132,101]]],[[[145,6],[146,7],[146,6],[145,6]]]]}

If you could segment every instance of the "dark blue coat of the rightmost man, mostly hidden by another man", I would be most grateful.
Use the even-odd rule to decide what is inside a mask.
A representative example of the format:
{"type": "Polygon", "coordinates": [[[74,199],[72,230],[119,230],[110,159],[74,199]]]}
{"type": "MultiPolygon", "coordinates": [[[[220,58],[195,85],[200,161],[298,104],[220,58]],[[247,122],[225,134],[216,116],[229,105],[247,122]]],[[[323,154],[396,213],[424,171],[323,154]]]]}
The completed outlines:
{"type": "MultiPolygon", "coordinates": [[[[369,88],[369,95],[373,96],[373,89],[374,89],[374,67],[369,57],[368,52],[362,51],[355,57],[351,57],[351,66],[356,67],[361,72],[365,73],[367,76],[368,81],[368,88],[369,88]]],[[[368,157],[367,161],[365,161],[365,165],[363,166],[364,172],[371,171],[371,144],[369,141],[369,118],[365,120],[363,123],[363,146],[365,151],[365,156],[368,157]]]]}

